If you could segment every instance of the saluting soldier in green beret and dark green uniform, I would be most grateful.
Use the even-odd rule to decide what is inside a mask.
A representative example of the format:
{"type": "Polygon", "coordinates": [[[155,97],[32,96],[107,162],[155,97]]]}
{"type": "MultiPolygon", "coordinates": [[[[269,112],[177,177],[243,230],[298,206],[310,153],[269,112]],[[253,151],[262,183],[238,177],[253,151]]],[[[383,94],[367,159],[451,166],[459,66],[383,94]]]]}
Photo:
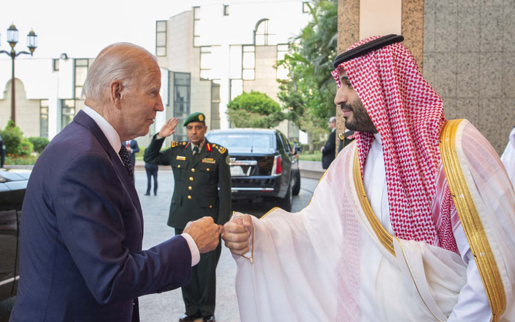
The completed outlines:
{"type": "MultiPolygon", "coordinates": [[[[154,135],[145,150],[147,163],[171,165],[174,172],[174,194],[171,197],[168,226],[181,234],[186,224],[203,216],[211,216],[224,225],[231,212],[231,174],[227,149],[204,138],[208,127],[202,113],[186,117],[184,126],[188,142],[171,142],[170,148],[160,151],[164,138],[175,132],[177,117],[170,118],[154,135]]],[[[215,250],[200,255],[193,267],[191,284],[182,287],[186,312],[179,321],[215,321],[216,265],[221,243],[215,250]]]]}

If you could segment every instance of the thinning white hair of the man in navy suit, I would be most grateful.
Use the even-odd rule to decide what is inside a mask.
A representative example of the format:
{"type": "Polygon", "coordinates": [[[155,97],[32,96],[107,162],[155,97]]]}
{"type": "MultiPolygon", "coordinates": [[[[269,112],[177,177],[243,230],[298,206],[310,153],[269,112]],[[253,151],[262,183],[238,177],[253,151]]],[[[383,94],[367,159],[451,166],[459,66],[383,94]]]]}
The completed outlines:
{"type": "Polygon", "coordinates": [[[157,60],[147,49],[128,42],[118,42],[102,49],[88,70],[82,87],[82,97],[99,100],[102,89],[115,79],[130,87],[141,76],[142,57],[157,60]]]}

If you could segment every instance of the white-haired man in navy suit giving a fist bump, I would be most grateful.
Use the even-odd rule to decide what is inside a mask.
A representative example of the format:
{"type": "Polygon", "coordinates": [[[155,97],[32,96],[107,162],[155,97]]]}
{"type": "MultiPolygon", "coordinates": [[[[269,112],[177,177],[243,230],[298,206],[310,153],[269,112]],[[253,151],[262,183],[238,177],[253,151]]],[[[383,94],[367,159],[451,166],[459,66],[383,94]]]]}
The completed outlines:
{"type": "Polygon", "coordinates": [[[142,47],[104,48],[84,83],[86,105],[45,148],[22,209],[20,281],[10,321],[139,321],[138,297],[190,282],[218,244],[211,217],[142,250],[143,214],[122,142],[163,111],[161,72],[142,47]]]}

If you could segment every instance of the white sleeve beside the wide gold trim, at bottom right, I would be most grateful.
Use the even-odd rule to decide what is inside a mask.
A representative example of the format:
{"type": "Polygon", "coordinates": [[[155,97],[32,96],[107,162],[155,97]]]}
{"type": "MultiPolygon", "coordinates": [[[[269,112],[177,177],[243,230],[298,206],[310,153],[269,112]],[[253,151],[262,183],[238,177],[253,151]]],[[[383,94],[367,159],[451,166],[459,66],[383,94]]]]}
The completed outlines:
{"type": "Polygon", "coordinates": [[[448,322],[489,322],[492,317],[492,311],[485,292],[485,286],[483,286],[476,261],[461,224],[456,228],[454,238],[461,253],[461,258],[467,264],[467,283],[461,287],[458,302],[454,306],[448,322]]]}

